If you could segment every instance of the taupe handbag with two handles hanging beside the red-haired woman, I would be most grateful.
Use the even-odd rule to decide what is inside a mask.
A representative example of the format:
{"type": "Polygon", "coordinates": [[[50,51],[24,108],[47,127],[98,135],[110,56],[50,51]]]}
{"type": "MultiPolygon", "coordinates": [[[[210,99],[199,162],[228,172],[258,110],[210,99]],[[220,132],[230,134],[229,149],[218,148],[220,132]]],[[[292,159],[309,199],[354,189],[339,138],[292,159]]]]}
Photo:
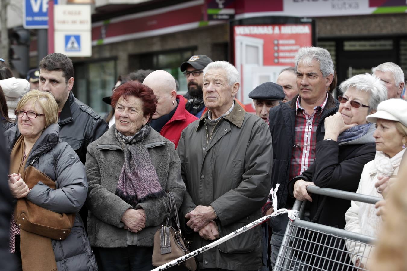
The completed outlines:
{"type": "MultiPolygon", "coordinates": [[[[168,192],[170,196],[170,204],[168,206],[168,217],[166,223],[160,227],[160,230],[154,234],[154,249],[153,257],[151,258],[151,263],[155,267],[159,267],[167,262],[171,262],[179,257],[182,257],[188,253],[190,241],[187,241],[181,234],[181,228],[179,226],[178,218],[178,208],[175,203],[175,198],[172,192],[168,192]],[[175,213],[175,223],[177,229],[169,225],[171,210],[175,213]]],[[[179,263],[178,265],[180,265],[179,263]]],[[[190,270],[197,270],[197,263],[195,258],[189,258],[188,260],[182,262],[184,266],[190,270]]]]}

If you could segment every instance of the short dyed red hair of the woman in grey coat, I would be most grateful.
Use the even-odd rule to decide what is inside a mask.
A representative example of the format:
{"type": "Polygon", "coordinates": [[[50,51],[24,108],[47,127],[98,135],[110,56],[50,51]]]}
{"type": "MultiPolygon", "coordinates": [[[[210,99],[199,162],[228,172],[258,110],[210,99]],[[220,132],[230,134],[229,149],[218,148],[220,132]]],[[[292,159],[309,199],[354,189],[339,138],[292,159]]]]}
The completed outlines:
{"type": "Polygon", "coordinates": [[[149,121],[151,121],[155,109],[157,108],[157,98],[155,97],[153,90],[139,82],[126,82],[113,92],[112,107],[116,108],[117,101],[120,97],[123,97],[126,100],[128,96],[140,98],[143,102],[143,114],[144,116],[150,114],[149,121]]]}

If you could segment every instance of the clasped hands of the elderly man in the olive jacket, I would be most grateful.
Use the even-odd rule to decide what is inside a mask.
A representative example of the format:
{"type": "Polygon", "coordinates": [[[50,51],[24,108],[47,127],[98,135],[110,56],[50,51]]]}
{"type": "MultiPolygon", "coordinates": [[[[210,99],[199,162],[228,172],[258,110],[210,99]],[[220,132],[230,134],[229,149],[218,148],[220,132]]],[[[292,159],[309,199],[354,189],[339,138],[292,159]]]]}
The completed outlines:
{"type": "Polygon", "coordinates": [[[215,240],[219,238],[218,226],[213,221],[216,219],[212,206],[198,205],[194,210],[185,215],[186,225],[198,232],[199,236],[205,240],[215,240]]]}

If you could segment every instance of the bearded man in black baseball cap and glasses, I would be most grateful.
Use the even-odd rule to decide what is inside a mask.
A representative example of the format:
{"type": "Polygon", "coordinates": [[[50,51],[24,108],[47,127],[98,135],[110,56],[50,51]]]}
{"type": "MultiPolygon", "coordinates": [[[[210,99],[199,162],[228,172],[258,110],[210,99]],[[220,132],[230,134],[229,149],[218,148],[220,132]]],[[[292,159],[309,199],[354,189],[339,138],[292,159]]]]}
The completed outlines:
{"type": "Polygon", "coordinates": [[[203,69],[212,62],[208,56],[198,54],[191,56],[188,61],[181,64],[181,72],[184,72],[188,93],[184,97],[188,100],[185,109],[197,118],[204,112],[205,104],[202,93],[202,82],[204,79],[203,69]]]}

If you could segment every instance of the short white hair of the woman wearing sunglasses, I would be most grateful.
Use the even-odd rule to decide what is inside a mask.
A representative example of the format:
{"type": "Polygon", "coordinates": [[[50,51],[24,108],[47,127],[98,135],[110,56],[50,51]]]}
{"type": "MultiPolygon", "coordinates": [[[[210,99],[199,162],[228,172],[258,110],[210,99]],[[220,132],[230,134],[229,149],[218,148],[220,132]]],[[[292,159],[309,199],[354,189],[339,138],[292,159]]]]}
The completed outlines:
{"type": "Polygon", "coordinates": [[[376,110],[381,102],[387,100],[387,89],[384,82],[372,74],[358,74],[339,85],[342,93],[345,93],[350,87],[369,94],[369,113],[376,110]]]}

